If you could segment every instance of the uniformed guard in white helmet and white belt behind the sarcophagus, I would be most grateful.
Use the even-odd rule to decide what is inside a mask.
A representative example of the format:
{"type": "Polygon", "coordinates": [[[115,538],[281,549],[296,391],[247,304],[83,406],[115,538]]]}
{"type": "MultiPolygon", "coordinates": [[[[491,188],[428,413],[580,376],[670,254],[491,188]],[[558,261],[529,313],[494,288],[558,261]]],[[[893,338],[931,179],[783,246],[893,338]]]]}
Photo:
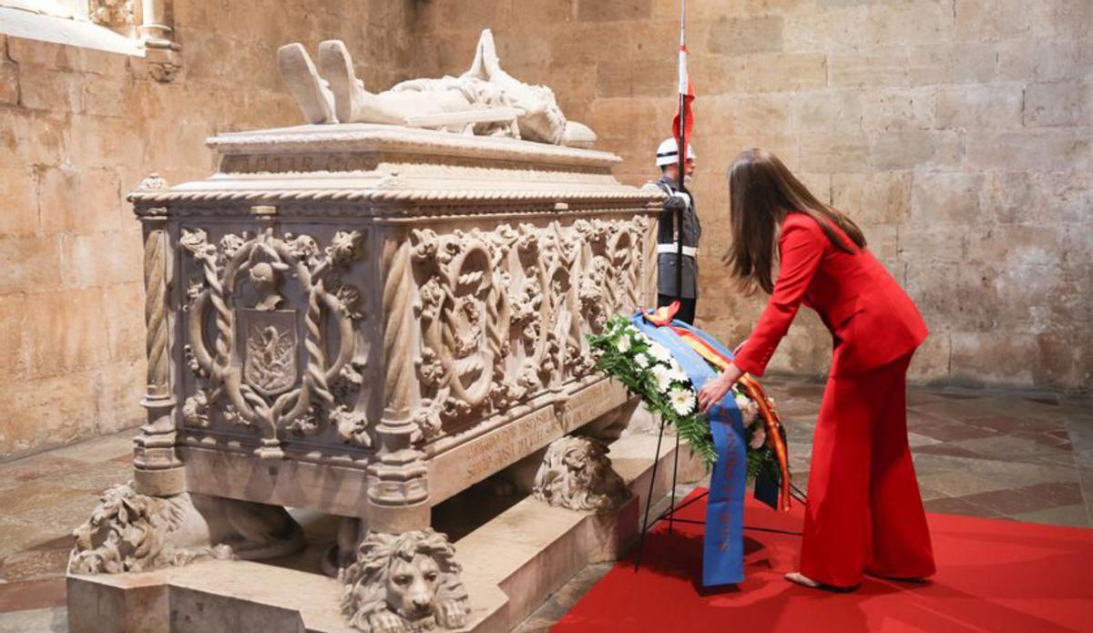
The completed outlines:
{"type": "MultiPolygon", "coordinates": [[[[660,213],[660,222],[657,231],[657,305],[666,306],[679,300],[680,309],[675,318],[687,324],[694,324],[695,302],[698,298],[698,236],[702,235],[702,226],[698,224],[698,214],[695,212],[694,199],[684,187],[680,190],[679,178],[679,145],[674,138],[667,139],[657,148],[657,166],[660,167],[660,179],[656,185],[668,194],[665,200],[663,211],[660,213]],[[679,218],[678,211],[682,209],[683,231],[680,236],[675,222],[679,218]],[[679,244],[683,243],[682,254],[682,289],[675,286],[679,244]]],[[[686,163],[684,176],[690,178],[694,174],[695,153],[694,146],[687,143],[686,163]]]]}

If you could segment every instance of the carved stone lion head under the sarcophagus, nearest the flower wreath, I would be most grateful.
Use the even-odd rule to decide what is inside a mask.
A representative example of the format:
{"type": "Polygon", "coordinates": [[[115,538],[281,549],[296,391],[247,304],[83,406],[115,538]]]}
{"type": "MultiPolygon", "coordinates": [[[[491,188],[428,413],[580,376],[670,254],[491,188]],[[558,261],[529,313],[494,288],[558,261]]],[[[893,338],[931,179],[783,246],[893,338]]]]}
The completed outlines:
{"type": "Polygon", "coordinates": [[[579,511],[610,511],[630,499],[626,483],[611,468],[608,447],[576,436],[551,443],[531,492],[550,505],[579,511]]]}

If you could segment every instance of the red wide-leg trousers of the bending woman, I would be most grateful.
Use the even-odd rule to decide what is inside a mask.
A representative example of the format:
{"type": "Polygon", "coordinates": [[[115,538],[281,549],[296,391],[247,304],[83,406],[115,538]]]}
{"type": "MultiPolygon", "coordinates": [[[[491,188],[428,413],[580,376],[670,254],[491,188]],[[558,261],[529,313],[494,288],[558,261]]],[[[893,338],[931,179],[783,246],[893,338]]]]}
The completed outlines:
{"type": "Polygon", "coordinates": [[[831,376],[812,442],[801,573],[851,587],[863,573],[921,578],[933,550],[907,444],[912,354],[831,376]]]}

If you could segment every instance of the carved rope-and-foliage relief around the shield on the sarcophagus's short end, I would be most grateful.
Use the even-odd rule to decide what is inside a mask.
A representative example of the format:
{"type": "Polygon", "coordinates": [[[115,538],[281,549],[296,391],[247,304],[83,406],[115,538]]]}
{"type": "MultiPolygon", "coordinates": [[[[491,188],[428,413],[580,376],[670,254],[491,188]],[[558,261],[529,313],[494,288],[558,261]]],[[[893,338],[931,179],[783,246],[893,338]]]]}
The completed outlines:
{"type": "Polygon", "coordinates": [[[183,407],[187,424],[209,426],[211,412],[220,411],[225,420],[257,430],[262,458],[281,458],[283,434],[317,433],[333,424],[343,442],[369,447],[363,413],[338,403],[330,385],[337,380],[360,386],[361,376],[353,366],[355,332],[353,320],[360,315],[352,303],[359,293],[342,285],[339,292],[327,290],[334,282],[333,271],[352,261],[361,242],[356,231],[338,232],[324,253],[308,235],[273,235],[267,227],[255,236],[227,234],[220,246],[210,244],[201,228],[183,228],[179,244],[201,266],[201,280],[192,281],[189,291],[189,336],[187,353],[190,368],[203,386],[186,399],[183,407]],[[307,295],[304,310],[305,368],[296,385],[295,312],[277,310],[281,296],[280,274],[292,272],[307,295]],[[237,279],[249,274],[249,283],[265,298],[250,308],[235,304],[237,279]],[[214,313],[214,353],[204,344],[205,314],[214,313]],[[248,332],[247,363],[235,362],[239,355],[235,332],[240,310],[252,318],[265,318],[248,332]],[[333,315],[339,330],[339,349],[328,362],[322,321],[333,315]],[[291,319],[279,328],[275,318],[291,319]],[[243,368],[240,370],[240,365],[243,368]]]}

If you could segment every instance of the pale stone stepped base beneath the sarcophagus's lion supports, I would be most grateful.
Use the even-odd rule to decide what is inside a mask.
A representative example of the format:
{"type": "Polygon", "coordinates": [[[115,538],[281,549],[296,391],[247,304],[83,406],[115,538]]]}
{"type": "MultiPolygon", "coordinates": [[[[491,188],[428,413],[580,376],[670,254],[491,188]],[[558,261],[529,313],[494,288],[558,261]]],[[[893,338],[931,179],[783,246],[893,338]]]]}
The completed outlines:
{"type": "MultiPolygon", "coordinates": [[[[660,448],[653,499],[668,493],[674,445],[660,448]]],[[[656,436],[611,445],[635,493],[619,511],[590,515],[524,499],[456,546],[471,601],[465,631],[510,631],[585,565],[616,559],[638,534],[656,436]]],[[[680,481],[702,477],[684,447],[680,481]]],[[[71,633],[351,633],[341,585],[321,574],[247,561],[205,561],[139,574],[69,576],[71,633]]]]}

